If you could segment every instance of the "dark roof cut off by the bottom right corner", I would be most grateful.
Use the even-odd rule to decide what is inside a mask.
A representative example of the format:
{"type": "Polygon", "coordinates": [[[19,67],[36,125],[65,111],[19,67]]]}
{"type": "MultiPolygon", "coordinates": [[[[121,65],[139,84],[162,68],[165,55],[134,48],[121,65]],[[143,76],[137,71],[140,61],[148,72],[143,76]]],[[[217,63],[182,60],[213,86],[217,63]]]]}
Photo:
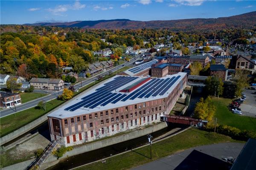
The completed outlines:
{"type": "Polygon", "coordinates": [[[256,170],[256,139],[249,139],[230,170],[256,170]]]}

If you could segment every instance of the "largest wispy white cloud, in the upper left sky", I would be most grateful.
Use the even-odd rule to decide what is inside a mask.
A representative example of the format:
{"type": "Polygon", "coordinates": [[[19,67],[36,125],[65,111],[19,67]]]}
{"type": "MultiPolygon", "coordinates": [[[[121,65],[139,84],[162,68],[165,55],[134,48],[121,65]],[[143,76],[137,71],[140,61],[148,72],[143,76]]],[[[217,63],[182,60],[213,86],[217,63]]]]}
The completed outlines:
{"type": "Polygon", "coordinates": [[[62,12],[66,12],[69,9],[72,10],[79,10],[85,8],[85,4],[81,4],[78,0],[74,4],[65,4],[65,5],[58,5],[54,8],[48,8],[47,11],[51,12],[54,15],[61,15],[62,12]]]}

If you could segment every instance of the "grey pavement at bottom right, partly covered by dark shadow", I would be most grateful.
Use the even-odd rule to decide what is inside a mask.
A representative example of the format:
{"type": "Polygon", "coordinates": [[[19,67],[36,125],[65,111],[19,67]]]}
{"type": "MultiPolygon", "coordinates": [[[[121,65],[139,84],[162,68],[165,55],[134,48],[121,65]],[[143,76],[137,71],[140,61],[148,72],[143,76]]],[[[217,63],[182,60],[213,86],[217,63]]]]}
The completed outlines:
{"type": "Polygon", "coordinates": [[[135,167],[133,170],[174,170],[193,150],[198,150],[218,159],[237,158],[243,147],[244,143],[219,143],[192,147],[188,150],[135,167]]]}

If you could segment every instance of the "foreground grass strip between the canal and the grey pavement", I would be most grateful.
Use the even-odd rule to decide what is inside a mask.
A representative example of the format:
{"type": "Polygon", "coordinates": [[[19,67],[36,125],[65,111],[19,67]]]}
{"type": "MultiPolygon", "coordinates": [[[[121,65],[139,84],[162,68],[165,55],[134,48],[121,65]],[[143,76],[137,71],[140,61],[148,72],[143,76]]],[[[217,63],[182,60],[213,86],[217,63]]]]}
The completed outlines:
{"type": "Polygon", "coordinates": [[[152,159],[150,158],[150,147],[145,146],[118,156],[106,159],[106,163],[96,162],[77,168],[77,170],[126,170],[139,165],[160,159],[170,154],[189,149],[191,147],[221,143],[239,142],[228,136],[190,128],[183,133],[152,144],[152,159]]]}

